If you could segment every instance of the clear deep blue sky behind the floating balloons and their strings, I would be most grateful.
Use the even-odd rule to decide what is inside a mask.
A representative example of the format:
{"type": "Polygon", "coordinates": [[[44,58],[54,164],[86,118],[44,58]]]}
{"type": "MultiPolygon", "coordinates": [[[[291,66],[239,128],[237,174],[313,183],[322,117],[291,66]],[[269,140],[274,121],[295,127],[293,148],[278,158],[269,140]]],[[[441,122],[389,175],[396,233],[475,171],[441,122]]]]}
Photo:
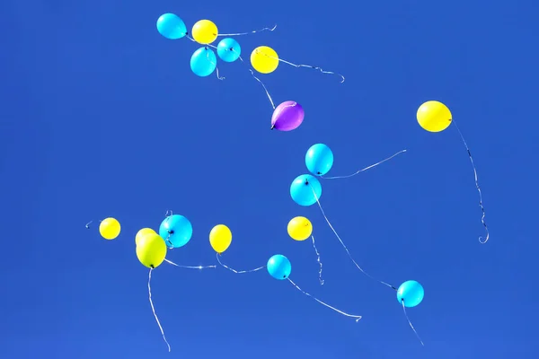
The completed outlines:
{"type": "Polygon", "coordinates": [[[0,356],[13,358],[532,358],[537,314],[535,234],[539,76],[533,1],[271,3],[8,0],[0,5],[2,253],[0,356]],[[248,58],[267,45],[295,63],[261,79],[276,103],[297,101],[305,121],[270,131],[272,109],[241,63],[197,77],[188,39],[155,29],[162,13],[190,28],[200,19],[237,37],[248,58]],[[534,49],[535,48],[535,49],[534,49]],[[481,245],[473,171],[455,127],[417,124],[424,101],[443,101],[471,147],[487,211],[481,245]],[[289,186],[305,152],[328,144],[321,203],[358,263],[425,299],[408,313],[395,293],[349,261],[315,206],[289,186]],[[534,170],[535,168],[535,170],[534,170]],[[135,234],[166,210],[194,232],[167,258],[215,265],[208,233],[233,232],[223,262],[292,262],[291,278],[324,308],[266,271],[235,275],[163,264],[153,276],[135,255],[135,234]],[[305,215],[323,260],[287,222],[305,215]],[[84,223],[113,216],[105,241],[84,223]]]}

